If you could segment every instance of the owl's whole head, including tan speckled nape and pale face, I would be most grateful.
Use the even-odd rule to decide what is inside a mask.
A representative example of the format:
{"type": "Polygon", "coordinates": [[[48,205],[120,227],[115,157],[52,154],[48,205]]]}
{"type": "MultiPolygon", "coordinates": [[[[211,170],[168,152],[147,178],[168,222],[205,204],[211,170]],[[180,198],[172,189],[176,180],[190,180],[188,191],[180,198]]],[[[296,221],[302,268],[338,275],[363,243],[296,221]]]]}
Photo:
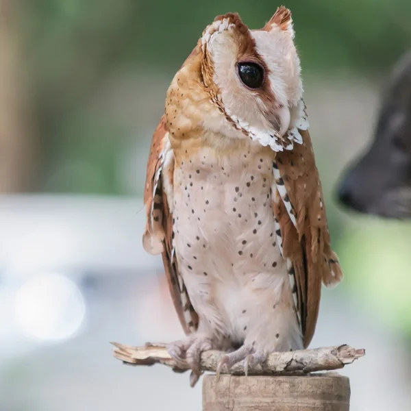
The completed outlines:
{"type": "Polygon", "coordinates": [[[284,7],[258,30],[238,14],[217,16],[169,88],[172,138],[203,129],[202,136],[249,139],[274,151],[301,144],[299,129],[308,129],[308,121],[293,38],[284,7]]]}

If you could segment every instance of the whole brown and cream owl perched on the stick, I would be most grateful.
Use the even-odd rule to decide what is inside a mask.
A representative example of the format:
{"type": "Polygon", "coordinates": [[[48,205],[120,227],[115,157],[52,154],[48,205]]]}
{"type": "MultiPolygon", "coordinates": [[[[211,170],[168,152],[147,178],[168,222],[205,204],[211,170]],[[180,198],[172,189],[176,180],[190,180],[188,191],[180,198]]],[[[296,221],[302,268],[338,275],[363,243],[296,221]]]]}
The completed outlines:
{"type": "Polygon", "coordinates": [[[343,273],[330,247],[291,13],[262,29],[217,16],[171,83],[147,165],[143,246],[161,254],[186,337],[168,346],[217,372],[307,347],[321,283],[343,273]]]}

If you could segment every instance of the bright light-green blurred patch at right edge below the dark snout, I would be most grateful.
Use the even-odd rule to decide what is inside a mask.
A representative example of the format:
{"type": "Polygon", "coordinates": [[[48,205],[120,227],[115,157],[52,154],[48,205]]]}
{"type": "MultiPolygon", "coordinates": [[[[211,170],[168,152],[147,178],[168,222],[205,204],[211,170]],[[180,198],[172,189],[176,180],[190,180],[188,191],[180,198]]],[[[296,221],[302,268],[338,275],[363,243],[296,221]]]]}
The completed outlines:
{"type": "Polygon", "coordinates": [[[356,301],[370,311],[370,319],[411,342],[410,225],[362,216],[361,228],[351,227],[340,238],[346,282],[356,301]]]}

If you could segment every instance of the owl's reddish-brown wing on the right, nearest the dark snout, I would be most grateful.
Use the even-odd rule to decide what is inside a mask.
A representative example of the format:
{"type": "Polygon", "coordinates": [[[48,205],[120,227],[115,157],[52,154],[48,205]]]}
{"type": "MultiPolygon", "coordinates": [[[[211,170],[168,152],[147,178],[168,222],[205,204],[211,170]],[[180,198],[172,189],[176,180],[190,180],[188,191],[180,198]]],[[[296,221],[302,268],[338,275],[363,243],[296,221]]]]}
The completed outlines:
{"type": "Polygon", "coordinates": [[[323,190],[308,130],[303,144],[277,153],[273,163],[273,211],[277,243],[287,262],[304,347],[310,344],[319,312],[321,281],[334,286],[343,278],[332,251],[323,190]]]}

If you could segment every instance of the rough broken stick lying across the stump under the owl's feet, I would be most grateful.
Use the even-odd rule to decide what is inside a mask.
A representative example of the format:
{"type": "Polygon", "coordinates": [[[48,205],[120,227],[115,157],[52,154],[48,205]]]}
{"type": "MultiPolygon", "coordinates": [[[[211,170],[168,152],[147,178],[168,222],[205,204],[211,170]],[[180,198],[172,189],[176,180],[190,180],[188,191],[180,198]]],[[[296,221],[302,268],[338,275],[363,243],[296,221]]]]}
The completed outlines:
{"type": "MultiPolygon", "coordinates": [[[[184,372],[189,369],[188,364],[176,362],[166,350],[165,344],[147,344],[145,347],[132,347],[112,343],[114,345],[114,357],[132,365],[164,364],[174,371],[184,372]]],[[[221,351],[205,351],[201,355],[202,371],[216,371],[217,364],[225,353],[221,351]]],[[[299,351],[287,351],[272,353],[262,366],[249,366],[249,374],[287,375],[290,373],[312,373],[314,371],[329,371],[342,369],[345,364],[361,358],[365,355],[364,349],[354,349],[349,345],[337,345],[299,351]]],[[[243,364],[235,364],[227,371],[223,367],[221,373],[232,375],[244,375],[243,364]]]]}

